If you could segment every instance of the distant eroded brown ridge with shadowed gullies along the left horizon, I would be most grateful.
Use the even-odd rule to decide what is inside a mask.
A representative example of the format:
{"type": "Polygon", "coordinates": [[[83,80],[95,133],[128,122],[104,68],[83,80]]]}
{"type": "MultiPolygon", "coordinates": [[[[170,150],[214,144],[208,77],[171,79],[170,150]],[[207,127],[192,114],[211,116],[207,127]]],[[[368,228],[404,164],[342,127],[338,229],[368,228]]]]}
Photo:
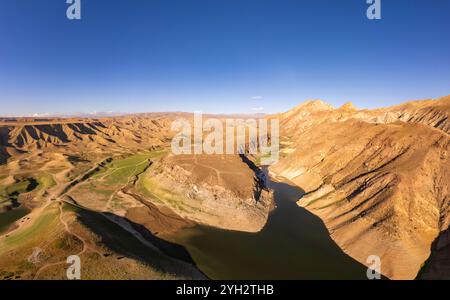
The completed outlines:
{"type": "Polygon", "coordinates": [[[0,122],[0,164],[36,151],[127,152],[167,142],[172,116],[127,116],[102,120],[0,122]]]}

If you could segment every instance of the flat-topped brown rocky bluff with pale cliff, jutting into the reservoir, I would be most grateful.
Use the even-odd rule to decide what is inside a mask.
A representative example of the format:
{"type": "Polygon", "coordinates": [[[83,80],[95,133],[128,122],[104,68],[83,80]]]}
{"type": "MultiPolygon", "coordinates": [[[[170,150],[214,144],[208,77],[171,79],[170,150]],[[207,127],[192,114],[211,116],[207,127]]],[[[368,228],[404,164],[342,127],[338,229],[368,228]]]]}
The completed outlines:
{"type": "Polygon", "coordinates": [[[169,156],[146,178],[157,199],[181,216],[214,227],[258,232],[272,193],[261,174],[238,155],[169,156]]]}

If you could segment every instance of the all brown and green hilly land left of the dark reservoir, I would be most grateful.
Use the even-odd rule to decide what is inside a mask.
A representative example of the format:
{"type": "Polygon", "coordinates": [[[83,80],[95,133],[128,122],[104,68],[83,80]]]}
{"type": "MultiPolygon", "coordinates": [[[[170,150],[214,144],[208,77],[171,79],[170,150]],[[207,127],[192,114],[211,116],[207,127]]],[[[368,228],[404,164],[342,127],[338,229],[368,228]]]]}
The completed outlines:
{"type": "Polygon", "coordinates": [[[0,279],[65,278],[74,253],[86,279],[202,279],[164,235],[261,230],[272,195],[259,170],[239,155],[171,156],[178,117],[192,118],[0,123],[0,279]]]}

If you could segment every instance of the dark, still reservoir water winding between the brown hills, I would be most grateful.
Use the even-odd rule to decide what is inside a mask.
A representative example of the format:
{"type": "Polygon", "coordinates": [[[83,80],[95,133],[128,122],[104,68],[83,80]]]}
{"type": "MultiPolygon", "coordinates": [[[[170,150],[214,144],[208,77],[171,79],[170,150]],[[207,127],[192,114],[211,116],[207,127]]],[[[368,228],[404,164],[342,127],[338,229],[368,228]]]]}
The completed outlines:
{"type": "Polygon", "coordinates": [[[303,192],[270,181],[276,209],[258,233],[196,226],[171,240],[211,279],[367,279],[367,268],[330,238],[320,218],[296,204],[303,192]]]}

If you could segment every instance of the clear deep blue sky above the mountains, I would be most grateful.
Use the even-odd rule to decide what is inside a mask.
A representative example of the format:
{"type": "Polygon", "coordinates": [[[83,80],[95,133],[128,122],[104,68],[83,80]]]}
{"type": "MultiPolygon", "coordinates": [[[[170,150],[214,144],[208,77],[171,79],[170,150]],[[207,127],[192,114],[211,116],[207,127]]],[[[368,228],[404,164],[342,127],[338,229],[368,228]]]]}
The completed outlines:
{"type": "Polygon", "coordinates": [[[379,107],[450,94],[450,0],[0,0],[0,115],[379,107]]]}

